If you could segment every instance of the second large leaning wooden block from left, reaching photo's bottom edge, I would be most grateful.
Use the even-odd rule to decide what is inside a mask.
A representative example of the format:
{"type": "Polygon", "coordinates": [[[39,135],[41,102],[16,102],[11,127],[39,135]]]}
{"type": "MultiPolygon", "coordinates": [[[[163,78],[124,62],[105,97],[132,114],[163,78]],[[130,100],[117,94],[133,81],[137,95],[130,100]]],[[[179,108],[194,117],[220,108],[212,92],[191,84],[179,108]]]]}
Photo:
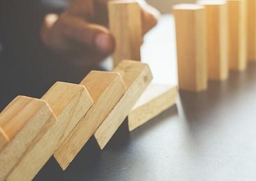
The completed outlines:
{"type": "Polygon", "coordinates": [[[42,100],[48,102],[57,120],[22,157],[7,180],[33,179],[93,104],[84,86],[61,82],[55,83],[42,100]]]}

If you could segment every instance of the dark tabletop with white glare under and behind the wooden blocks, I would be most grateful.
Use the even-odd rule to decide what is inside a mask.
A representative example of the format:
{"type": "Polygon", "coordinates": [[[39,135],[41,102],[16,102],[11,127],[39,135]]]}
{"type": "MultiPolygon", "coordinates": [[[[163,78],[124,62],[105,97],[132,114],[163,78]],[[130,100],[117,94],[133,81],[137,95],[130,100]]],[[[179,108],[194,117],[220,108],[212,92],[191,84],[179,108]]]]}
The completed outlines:
{"type": "MultiPolygon", "coordinates": [[[[154,81],[177,83],[173,32],[168,15],[145,37],[154,81]]],[[[91,138],[66,171],[52,157],[35,180],[256,180],[255,112],[250,63],[207,91],[180,91],[177,106],[133,132],[125,120],[102,151],[91,138]]]]}

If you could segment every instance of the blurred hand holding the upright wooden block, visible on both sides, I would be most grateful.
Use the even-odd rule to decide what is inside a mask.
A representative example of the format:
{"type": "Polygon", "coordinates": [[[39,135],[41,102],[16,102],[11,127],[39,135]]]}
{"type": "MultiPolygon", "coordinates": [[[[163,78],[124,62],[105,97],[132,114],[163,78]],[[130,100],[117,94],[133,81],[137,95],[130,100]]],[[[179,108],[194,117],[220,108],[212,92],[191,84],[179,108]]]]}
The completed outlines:
{"type": "MultiPolygon", "coordinates": [[[[115,40],[107,28],[108,1],[76,0],[61,15],[46,15],[42,42],[76,65],[96,65],[115,49],[115,40]]],[[[156,26],[159,13],[144,0],[138,3],[145,34],[156,26]]]]}

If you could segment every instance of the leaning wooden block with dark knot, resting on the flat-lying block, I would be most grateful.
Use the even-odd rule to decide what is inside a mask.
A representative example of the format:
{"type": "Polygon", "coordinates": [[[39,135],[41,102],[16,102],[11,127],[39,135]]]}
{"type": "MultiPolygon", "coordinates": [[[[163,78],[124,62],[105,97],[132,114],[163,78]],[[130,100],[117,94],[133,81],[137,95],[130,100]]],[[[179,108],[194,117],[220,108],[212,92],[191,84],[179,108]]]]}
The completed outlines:
{"type": "Polygon", "coordinates": [[[122,75],[124,83],[127,86],[127,92],[94,134],[101,149],[106,146],[138,98],[140,98],[143,91],[145,91],[148,84],[152,81],[152,73],[145,63],[122,61],[113,71],[122,75]]]}

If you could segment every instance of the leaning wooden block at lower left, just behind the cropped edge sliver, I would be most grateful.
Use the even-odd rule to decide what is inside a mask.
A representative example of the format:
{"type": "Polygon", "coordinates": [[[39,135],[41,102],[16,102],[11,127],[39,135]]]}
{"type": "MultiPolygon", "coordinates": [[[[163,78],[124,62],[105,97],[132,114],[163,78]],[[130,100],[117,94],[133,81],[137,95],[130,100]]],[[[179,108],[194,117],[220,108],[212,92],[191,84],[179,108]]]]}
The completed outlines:
{"type": "MultiPolygon", "coordinates": [[[[6,178],[8,174],[33,150],[55,121],[56,116],[45,100],[18,96],[4,109],[0,125],[10,141],[0,152],[0,180],[10,180],[6,178]]],[[[33,166],[30,165],[30,169],[33,166]]],[[[20,177],[28,176],[22,174],[20,177]]]]}

